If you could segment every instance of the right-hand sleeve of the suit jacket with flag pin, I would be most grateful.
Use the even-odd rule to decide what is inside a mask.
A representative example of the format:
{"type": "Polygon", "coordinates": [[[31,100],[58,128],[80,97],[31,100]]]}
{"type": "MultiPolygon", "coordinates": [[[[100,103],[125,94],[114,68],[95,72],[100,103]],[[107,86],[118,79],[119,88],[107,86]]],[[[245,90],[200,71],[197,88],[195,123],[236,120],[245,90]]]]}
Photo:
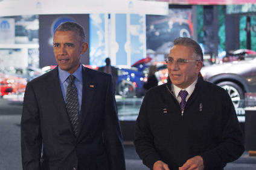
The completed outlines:
{"type": "Polygon", "coordinates": [[[104,145],[111,170],[125,170],[123,137],[117,115],[117,103],[111,76],[109,75],[105,102],[104,145]]]}

